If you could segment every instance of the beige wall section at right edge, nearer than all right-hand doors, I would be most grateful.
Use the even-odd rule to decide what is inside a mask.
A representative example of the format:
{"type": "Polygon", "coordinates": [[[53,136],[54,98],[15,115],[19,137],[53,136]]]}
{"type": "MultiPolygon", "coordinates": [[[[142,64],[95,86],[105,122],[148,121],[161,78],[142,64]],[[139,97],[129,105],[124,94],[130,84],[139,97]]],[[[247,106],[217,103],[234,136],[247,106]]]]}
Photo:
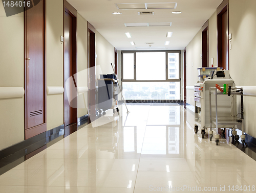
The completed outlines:
{"type": "MultiPolygon", "coordinates": [[[[230,75],[238,86],[256,86],[256,1],[229,1],[230,75]]],[[[245,132],[256,137],[256,96],[244,96],[245,132]]]]}

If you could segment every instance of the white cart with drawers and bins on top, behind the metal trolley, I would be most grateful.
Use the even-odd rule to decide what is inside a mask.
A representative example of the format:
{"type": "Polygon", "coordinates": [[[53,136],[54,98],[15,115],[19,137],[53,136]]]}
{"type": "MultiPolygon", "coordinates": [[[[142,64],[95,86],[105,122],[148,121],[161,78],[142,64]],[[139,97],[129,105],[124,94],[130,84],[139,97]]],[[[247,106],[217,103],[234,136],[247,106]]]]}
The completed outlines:
{"type": "MultiPolygon", "coordinates": [[[[210,105],[212,113],[215,112],[216,102],[213,98],[209,101],[209,90],[217,85],[228,84],[231,87],[236,87],[234,81],[230,78],[228,70],[222,70],[219,67],[198,68],[199,81],[194,85],[194,101],[195,101],[195,133],[201,129],[202,138],[204,138],[206,130],[210,128],[210,105]],[[209,73],[209,74],[208,74],[209,73]]],[[[230,115],[231,98],[218,96],[217,108],[218,115],[230,115]]],[[[235,105],[235,104],[233,104],[235,105]]],[[[236,110],[236,107],[233,107],[236,110]]],[[[216,131],[218,133],[218,131],[216,131]]],[[[210,129],[209,138],[212,139],[213,131],[210,129]]]]}

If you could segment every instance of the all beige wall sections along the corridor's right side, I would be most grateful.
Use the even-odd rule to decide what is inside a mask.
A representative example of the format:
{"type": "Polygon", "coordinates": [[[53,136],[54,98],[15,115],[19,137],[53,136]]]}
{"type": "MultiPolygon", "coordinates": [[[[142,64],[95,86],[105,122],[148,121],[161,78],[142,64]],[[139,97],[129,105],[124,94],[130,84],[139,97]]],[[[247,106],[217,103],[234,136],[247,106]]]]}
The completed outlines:
{"type": "MultiPolygon", "coordinates": [[[[229,1],[229,33],[232,34],[229,50],[230,76],[238,86],[256,86],[256,1],[229,1]]],[[[187,85],[197,82],[197,70],[201,67],[201,30],[187,45],[187,85]],[[197,60],[197,67],[191,67],[191,61],[197,60]],[[200,64],[200,65],[198,65],[200,64]],[[191,70],[191,71],[190,71],[191,70]],[[191,72],[191,73],[190,73],[191,72]]],[[[209,18],[209,64],[214,58],[217,66],[217,13],[209,18]]],[[[193,90],[187,90],[188,103],[194,105],[193,90]]],[[[238,98],[239,99],[239,98],[238,98]]],[[[238,100],[239,102],[239,100],[238,100]]],[[[244,128],[249,135],[256,137],[256,96],[244,96],[244,128]]],[[[238,108],[240,104],[238,103],[238,108]]]]}

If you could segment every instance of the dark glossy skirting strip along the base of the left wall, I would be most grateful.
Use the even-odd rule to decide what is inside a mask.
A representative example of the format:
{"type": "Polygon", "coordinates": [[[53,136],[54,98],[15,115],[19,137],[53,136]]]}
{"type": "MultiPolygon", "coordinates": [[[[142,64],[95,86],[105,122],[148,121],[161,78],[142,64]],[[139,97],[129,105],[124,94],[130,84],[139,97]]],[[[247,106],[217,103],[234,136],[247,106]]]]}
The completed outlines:
{"type": "Polygon", "coordinates": [[[40,151],[50,147],[55,142],[84,127],[84,125],[88,123],[88,115],[83,115],[79,117],[78,120],[78,124],[72,125],[72,128],[64,128],[64,125],[60,125],[30,139],[16,143],[11,147],[1,150],[0,175],[24,162],[28,158],[32,157],[32,155],[39,153],[40,151]]]}

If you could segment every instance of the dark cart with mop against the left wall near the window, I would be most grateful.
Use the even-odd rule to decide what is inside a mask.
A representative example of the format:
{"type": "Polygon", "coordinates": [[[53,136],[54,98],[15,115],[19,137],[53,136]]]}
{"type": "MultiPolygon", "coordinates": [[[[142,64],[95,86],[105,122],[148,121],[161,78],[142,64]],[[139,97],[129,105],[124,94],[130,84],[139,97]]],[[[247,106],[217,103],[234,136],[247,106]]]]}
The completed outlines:
{"type": "Polygon", "coordinates": [[[98,79],[98,108],[99,113],[106,114],[106,110],[119,111],[118,107],[118,85],[115,75],[100,75],[98,79]]]}

